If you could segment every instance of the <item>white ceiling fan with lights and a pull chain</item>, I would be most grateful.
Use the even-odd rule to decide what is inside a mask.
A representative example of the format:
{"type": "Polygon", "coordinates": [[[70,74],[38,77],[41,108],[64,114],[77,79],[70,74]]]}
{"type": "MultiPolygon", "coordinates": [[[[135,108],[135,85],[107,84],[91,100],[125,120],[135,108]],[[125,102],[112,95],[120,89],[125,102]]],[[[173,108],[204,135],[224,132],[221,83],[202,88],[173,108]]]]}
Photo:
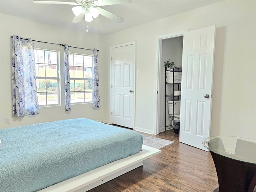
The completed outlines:
{"type": "Polygon", "coordinates": [[[38,4],[64,4],[74,6],[72,8],[75,15],[75,18],[72,21],[73,23],[81,22],[83,17],[86,22],[91,22],[93,18],[98,17],[99,14],[115,22],[121,23],[124,21],[123,18],[100,8],[100,6],[130,3],[132,0],[76,0],[76,2],[34,0],[33,2],[38,4]]]}

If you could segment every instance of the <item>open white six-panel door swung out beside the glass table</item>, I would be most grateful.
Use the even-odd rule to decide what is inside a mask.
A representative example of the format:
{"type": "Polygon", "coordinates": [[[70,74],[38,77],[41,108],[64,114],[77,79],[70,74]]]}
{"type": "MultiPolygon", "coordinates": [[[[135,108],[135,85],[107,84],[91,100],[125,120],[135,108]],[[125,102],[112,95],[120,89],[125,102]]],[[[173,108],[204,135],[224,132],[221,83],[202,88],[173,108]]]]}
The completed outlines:
{"type": "Polygon", "coordinates": [[[202,140],[210,136],[214,42],[215,26],[184,33],[180,142],[206,151],[202,140]]]}

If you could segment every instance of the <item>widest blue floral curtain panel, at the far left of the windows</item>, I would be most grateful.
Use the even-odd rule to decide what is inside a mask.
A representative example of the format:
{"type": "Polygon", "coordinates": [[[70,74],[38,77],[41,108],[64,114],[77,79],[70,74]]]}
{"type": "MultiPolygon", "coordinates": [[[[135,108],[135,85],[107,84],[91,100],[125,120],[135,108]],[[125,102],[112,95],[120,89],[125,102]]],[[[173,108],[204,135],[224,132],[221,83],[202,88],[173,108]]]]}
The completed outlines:
{"type": "Polygon", "coordinates": [[[12,36],[12,110],[23,117],[39,112],[32,38],[12,36]]]}

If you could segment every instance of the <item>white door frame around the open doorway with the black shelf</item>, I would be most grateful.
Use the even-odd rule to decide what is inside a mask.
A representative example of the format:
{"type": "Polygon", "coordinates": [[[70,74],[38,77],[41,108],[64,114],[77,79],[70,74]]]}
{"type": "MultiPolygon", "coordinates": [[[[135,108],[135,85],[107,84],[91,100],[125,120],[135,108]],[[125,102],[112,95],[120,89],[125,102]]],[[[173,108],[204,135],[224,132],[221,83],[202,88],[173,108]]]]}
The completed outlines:
{"type": "Polygon", "coordinates": [[[154,104],[154,135],[160,130],[160,102],[161,102],[161,71],[162,71],[162,40],[183,36],[189,30],[168,33],[156,37],[156,64],[155,64],[155,104],[154,104]]]}

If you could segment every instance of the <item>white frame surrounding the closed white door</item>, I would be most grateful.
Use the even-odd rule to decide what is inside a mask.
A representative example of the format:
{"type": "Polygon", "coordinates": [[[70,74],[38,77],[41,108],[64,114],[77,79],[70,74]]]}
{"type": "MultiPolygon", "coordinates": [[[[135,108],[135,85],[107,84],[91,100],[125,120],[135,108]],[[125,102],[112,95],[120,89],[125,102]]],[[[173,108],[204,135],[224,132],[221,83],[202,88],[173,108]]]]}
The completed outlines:
{"type": "Polygon", "coordinates": [[[134,58],[133,58],[133,62],[134,62],[134,68],[133,68],[133,74],[134,74],[134,78],[133,78],[133,122],[132,122],[132,129],[134,130],[135,128],[135,104],[136,104],[136,101],[135,101],[135,90],[136,90],[136,41],[132,41],[132,42],[127,42],[127,43],[122,43],[122,44],[117,44],[117,45],[112,45],[110,46],[110,124],[112,124],[112,60],[111,60],[111,57],[112,57],[112,49],[113,48],[118,48],[118,47],[123,47],[123,46],[128,46],[128,45],[133,45],[134,46],[134,58]]]}

